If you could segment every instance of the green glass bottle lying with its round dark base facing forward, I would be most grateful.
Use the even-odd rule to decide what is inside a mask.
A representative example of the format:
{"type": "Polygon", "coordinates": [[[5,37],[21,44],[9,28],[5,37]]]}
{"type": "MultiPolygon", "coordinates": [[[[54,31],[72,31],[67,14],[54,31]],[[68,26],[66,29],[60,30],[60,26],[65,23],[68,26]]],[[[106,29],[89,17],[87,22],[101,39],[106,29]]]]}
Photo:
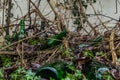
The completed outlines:
{"type": "Polygon", "coordinates": [[[35,76],[40,76],[48,80],[50,80],[50,78],[61,80],[66,77],[66,73],[71,72],[72,70],[67,63],[58,61],[40,67],[35,76]]]}

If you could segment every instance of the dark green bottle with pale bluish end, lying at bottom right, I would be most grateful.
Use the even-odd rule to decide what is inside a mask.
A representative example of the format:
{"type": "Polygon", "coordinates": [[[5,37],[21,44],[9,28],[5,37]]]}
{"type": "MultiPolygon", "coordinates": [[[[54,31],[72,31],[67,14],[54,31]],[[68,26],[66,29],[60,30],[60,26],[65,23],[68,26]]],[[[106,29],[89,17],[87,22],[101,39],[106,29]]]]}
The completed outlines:
{"type": "Polygon", "coordinates": [[[88,80],[115,80],[106,64],[91,60],[85,64],[84,74],[88,80]]]}

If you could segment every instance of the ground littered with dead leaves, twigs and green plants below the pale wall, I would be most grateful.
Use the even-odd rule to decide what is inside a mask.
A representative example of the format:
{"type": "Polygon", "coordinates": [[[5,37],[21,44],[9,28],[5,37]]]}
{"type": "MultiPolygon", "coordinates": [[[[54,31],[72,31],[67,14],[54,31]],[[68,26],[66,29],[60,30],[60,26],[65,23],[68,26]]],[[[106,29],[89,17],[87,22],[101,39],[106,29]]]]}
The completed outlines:
{"type": "Polygon", "coordinates": [[[120,36],[114,32],[104,36],[69,32],[57,45],[42,48],[47,39],[36,36],[4,43],[0,49],[0,80],[33,80],[41,66],[57,61],[74,67],[72,75],[63,80],[120,80],[120,36]]]}

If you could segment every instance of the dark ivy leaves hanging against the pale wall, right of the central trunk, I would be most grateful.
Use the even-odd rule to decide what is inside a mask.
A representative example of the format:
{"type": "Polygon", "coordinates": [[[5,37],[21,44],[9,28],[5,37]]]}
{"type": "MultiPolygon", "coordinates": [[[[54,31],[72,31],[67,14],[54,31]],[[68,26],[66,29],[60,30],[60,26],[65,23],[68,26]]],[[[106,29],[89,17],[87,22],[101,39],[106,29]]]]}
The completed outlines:
{"type": "MultiPolygon", "coordinates": [[[[82,29],[82,24],[84,24],[86,20],[83,16],[83,13],[81,12],[79,0],[78,1],[72,0],[72,1],[73,1],[72,14],[74,17],[76,17],[76,19],[74,19],[74,24],[77,27],[76,31],[79,31],[82,29]]],[[[80,0],[80,1],[84,9],[87,9],[89,4],[96,2],[96,0],[80,0]]]]}

